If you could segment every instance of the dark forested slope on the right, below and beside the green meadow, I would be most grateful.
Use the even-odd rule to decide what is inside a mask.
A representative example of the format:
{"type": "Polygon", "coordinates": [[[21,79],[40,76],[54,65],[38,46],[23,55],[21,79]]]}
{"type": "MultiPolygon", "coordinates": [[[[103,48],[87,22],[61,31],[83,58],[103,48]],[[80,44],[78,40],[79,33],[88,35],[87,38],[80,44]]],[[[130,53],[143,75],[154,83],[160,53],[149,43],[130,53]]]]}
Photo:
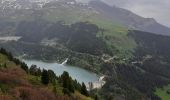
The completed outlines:
{"type": "Polygon", "coordinates": [[[159,93],[157,96],[155,91],[164,85],[167,86],[170,82],[170,48],[168,46],[170,37],[142,31],[130,31],[128,35],[137,43],[135,57],[126,64],[115,61],[105,63],[101,69],[104,73],[108,73],[112,80],[108,79],[100,92],[104,94],[105,98],[109,98],[108,93],[112,93],[110,96],[113,97],[124,94],[122,98],[126,98],[125,100],[136,100],[137,98],[141,100],[140,93],[142,93],[144,98],[146,96],[146,100],[149,98],[161,100],[162,98],[158,97],[159,93]],[[135,87],[140,93],[138,91],[135,92],[135,95],[130,93],[135,91],[132,87],[135,87]],[[124,88],[132,90],[124,90],[124,88]],[[126,93],[130,93],[131,96],[127,96],[126,93]]]}

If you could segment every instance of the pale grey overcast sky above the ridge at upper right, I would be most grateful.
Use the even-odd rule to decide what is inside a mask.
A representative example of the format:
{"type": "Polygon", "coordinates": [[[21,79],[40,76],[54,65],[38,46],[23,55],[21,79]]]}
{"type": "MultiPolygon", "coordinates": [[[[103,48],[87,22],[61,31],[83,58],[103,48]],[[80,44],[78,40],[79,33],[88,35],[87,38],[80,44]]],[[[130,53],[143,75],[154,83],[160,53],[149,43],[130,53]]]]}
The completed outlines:
{"type": "MultiPolygon", "coordinates": [[[[78,0],[89,1],[89,0],[78,0]]],[[[170,0],[102,0],[110,5],[129,9],[143,16],[156,19],[170,27],[170,0]]]]}

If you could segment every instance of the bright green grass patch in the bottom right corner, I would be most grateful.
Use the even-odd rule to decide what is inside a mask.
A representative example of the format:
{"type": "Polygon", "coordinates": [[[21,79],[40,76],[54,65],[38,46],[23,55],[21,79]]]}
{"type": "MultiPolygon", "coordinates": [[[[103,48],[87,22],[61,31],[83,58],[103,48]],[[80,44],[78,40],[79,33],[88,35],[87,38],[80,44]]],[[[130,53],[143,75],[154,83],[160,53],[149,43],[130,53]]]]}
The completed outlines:
{"type": "Polygon", "coordinates": [[[163,88],[157,88],[155,94],[162,100],[170,100],[170,94],[167,94],[168,89],[170,89],[170,85],[164,86],[163,88]]]}

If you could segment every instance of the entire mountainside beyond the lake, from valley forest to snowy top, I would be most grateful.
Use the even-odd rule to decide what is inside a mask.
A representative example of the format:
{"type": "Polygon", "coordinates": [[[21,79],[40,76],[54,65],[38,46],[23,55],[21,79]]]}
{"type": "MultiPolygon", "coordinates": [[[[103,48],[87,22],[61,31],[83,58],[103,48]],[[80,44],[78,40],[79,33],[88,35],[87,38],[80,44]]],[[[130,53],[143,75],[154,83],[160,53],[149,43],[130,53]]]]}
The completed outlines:
{"type": "Polygon", "coordinates": [[[169,29],[154,19],[100,1],[5,0],[1,5],[0,36],[6,38],[0,46],[24,59],[61,63],[68,58],[67,64],[105,75],[106,84],[90,91],[92,97],[161,100],[158,89],[170,84],[169,29]]]}

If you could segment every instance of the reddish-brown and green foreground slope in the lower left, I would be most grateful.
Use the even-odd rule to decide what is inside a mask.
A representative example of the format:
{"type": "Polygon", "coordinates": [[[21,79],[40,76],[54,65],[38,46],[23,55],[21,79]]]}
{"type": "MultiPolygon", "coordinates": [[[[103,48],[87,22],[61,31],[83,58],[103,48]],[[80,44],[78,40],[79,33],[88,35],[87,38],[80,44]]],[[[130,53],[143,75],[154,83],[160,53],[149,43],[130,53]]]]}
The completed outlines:
{"type": "MultiPolygon", "coordinates": [[[[54,97],[52,92],[53,85],[51,83],[48,86],[42,85],[40,77],[26,74],[19,66],[9,61],[7,56],[1,53],[0,65],[0,99],[13,100],[20,98],[18,97],[19,94],[16,93],[18,92],[22,94],[23,91],[25,91],[26,96],[30,95],[29,98],[35,98],[34,96],[37,98],[43,98],[41,93],[46,93],[47,98],[54,97]],[[4,64],[6,64],[6,67],[3,66],[4,64]]],[[[56,100],[69,98],[63,94],[62,89],[61,85],[56,82],[56,100]]],[[[72,95],[81,100],[92,100],[91,98],[81,95],[79,92],[75,92],[75,94],[72,95]]],[[[44,98],[44,100],[46,100],[46,98],[44,98]]]]}

